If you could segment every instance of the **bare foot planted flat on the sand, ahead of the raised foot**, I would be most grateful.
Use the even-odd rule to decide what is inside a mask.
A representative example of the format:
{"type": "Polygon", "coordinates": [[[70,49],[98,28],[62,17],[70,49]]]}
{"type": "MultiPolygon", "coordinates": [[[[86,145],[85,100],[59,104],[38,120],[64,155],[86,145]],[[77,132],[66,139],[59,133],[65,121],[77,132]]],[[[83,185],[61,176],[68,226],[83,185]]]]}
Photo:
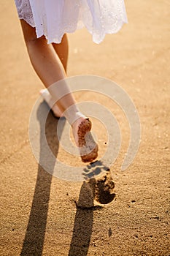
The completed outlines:
{"type": "Polygon", "coordinates": [[[53,114],[56,118],[60,118],[63,116],[60,108],[58,108],[58,105],[54,104],[53,98],[51,97],[51,95],[47,89],[42,89],[41,91],[39,91],[39,94],[42,95],[43,99],[45,99],[45,102],[50,107],[50,109],[53,111],[53,114]]]}

